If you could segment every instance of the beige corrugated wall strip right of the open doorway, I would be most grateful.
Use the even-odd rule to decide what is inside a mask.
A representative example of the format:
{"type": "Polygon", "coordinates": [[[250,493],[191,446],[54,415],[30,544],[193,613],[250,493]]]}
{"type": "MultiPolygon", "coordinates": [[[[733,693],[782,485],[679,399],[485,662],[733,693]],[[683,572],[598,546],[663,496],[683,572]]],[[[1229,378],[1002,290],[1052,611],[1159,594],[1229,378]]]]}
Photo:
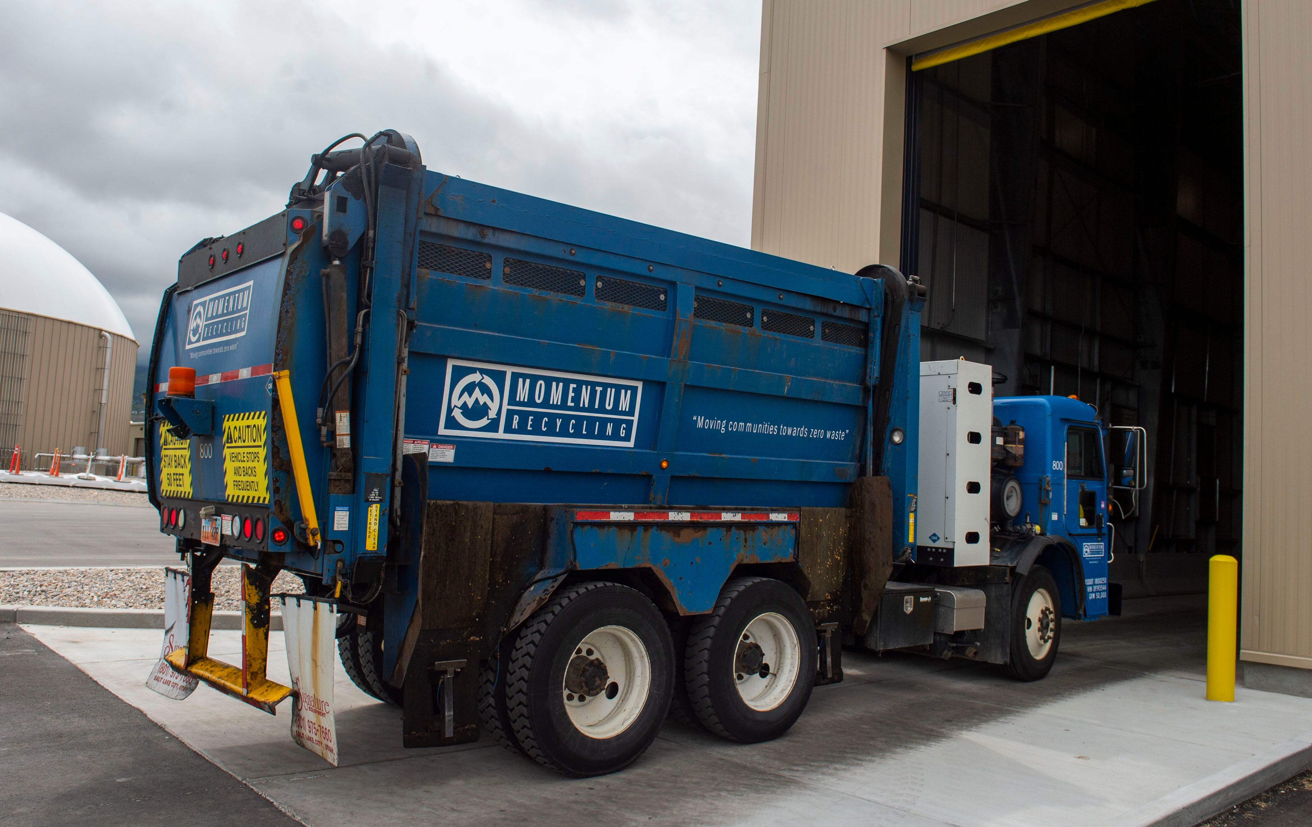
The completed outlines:
{"type": "Polygon", "coordinates": [[[1242,659],[1312,668],[1312,4],[1245,0],[1242,659]]]}

